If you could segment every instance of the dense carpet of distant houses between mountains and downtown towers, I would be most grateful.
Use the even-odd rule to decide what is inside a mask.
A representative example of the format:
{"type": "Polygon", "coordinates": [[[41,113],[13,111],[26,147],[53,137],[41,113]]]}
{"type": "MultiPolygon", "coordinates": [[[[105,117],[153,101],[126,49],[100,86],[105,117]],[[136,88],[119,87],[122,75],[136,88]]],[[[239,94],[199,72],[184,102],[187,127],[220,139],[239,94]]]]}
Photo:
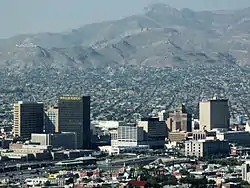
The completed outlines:
{"type": "MultiPolygon", "coordinates": [[[[113,67],[86,71],[36,69],[2,72],[1,112],[18,100],[54,105],[60,95],[91,96],[91,114],[99,120],[131,120],[185,103],[198,117],[200,100],[228,98],[231,118],[248,116],[250,75],[230,64],[184,68],[113,67]]],[[[7,112],[6,111],[6,112],[7,112]]]]}

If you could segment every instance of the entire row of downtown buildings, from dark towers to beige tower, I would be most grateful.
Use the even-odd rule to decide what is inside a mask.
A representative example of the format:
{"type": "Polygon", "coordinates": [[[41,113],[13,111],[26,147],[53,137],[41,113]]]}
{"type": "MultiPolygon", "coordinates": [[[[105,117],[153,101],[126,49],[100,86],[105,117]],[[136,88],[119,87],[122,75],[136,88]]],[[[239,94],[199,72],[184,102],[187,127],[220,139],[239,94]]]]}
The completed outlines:
{"type": "Polygon", "coordinates": [[[201,101],[199,109],[199,120],[193,119],[182,104],[174,111],[164,110],[134,122],[107,121],[100,126],[90,122],[90,97],[61,96],[56,107],[46,109],[40,102],[18,102],[13,111],[13,138],[3,139],[2,147],[12,150],[31,147],[27,145],[37,150],[99,147],[103,152],[119,154],[174,146],[185,156],[205,157],[228,155],[230,146],[236,155],[238,145],[249,145],[248,123],[245,130],[230,126],[228,100],[201,101]]]}

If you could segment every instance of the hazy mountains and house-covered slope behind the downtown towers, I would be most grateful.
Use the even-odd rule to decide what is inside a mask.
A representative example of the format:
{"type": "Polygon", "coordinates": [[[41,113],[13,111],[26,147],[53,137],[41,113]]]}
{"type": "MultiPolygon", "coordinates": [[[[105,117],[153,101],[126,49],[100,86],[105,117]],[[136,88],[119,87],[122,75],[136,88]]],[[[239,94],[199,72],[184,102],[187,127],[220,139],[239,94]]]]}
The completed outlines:
{"type": "Polygon", "coordinates": [[[0,40],[0,102],[89,95],[93,119],[131,121],[180,103],[197,118],[199,101],[218,96],[232,118],[250,117],[249,10],[154,4],[67,33],[0,40]]]}

